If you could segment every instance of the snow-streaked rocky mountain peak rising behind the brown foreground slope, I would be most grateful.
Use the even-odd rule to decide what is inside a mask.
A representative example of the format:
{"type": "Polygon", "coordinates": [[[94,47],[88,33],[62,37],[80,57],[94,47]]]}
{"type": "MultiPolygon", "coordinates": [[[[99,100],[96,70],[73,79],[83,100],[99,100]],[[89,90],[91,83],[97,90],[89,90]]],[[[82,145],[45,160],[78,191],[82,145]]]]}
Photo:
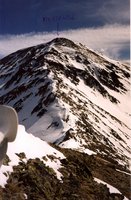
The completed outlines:
{"type": "Polygon", "coordinates": [[[65,38],[0,60],[0,104],[16,109],[28,133],[123,174],[130,173],[129,90],[128,65],[65,38]]]}

